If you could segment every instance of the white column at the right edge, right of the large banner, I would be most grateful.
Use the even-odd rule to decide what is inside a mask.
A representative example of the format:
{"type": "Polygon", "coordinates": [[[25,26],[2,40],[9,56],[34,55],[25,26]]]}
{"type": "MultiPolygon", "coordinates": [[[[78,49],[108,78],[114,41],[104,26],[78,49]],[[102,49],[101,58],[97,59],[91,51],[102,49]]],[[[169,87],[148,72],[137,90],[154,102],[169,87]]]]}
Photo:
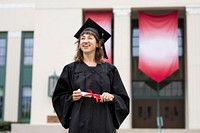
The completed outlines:
{"type": "Polygon", "coordinates": [[[200,129],[200,7],[187,7],[186,13],[186,125],[200,129]]]}

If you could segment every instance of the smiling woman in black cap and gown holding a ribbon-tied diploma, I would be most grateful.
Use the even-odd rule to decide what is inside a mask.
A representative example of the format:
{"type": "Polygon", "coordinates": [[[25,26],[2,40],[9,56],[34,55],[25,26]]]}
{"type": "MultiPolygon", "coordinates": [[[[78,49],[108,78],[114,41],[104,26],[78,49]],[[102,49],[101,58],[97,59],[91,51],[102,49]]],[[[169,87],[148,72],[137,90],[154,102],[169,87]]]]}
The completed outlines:
{"type": "Polygon", "coordinates": [[[74,36],[75,61],[63,68],[53,107],[69,133],[116,133],[129,114],[129,97],[117,68],[103,61],[111,35],[89,18],[74,36]]]}

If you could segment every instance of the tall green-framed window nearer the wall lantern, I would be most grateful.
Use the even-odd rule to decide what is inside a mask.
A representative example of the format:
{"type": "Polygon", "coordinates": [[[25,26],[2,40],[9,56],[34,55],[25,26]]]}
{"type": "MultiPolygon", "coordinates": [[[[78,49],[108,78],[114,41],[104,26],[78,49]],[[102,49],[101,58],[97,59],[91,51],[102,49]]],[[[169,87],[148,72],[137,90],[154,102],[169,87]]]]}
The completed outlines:
{"type": "Polygon", "coordinates": [[[30,122],[32,65],[33,65],[33,32],[22,32],[22,50],[20,67],[19,121],[30,122]]]}

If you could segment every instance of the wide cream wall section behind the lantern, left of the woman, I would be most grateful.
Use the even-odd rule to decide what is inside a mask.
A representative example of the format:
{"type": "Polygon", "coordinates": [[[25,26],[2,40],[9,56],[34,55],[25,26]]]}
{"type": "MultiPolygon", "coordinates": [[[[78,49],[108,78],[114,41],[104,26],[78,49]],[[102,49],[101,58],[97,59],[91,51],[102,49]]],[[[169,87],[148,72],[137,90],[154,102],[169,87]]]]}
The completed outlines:
{"type": "Polygon", "coordinates": [[[54,71],[57,75],[60,75],[63,67],[73,61],[77,46],[74,45],[76,39],[73,35],[82,25],[81,8],[54,10],[51,7],[43,8],[43,5],[39,6],[41,7],[35,11],[34,20],[30,121],[30,124],[33,125],[47,124],[47,117],[56,115],[52,106],[52,99],[48,97],[48,77],[54,71]],[[46,33],[48,35],[44,36],[46,33]],[[44,65],[44,63],[47,65],[44,65]]]}

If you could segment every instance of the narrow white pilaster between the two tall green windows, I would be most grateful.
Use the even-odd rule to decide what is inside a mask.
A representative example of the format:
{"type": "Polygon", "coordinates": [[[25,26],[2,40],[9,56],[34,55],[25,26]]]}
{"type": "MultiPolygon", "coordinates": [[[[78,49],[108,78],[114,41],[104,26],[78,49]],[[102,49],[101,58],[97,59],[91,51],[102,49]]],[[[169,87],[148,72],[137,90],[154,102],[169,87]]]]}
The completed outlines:
{"type": "Polygon", "coordinates": [[[17,121],[19,99],[19,75],[21,55],[21,32],[8,32],[6,86],[5,86],[5,121],[17,121]]]}

